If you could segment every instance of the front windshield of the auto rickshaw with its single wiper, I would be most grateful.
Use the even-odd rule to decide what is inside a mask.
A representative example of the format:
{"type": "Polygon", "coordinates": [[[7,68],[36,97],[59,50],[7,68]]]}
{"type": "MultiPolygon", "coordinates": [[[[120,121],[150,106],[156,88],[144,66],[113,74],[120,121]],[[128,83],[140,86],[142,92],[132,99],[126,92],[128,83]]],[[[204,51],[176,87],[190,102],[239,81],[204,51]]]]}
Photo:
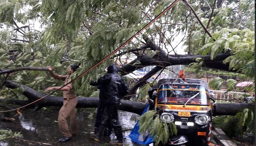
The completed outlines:
{"type": "Polygon", "coordinates": [[[195,84],[162,84],[158,90],[159,104],[185,104],[187,101],[187,105],[209,105],[206,88],[195,84]],[[195,97],[188,101],[192,96],[195,97]]]}

